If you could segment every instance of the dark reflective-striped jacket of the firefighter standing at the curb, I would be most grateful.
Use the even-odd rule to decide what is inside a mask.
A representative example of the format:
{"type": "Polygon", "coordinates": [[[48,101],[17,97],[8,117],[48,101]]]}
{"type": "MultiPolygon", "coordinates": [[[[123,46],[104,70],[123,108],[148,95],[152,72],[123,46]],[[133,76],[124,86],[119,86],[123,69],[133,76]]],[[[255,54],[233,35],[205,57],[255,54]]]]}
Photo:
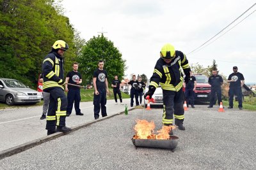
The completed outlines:
{"type": "Polygon", "coordinates": [[[64,89],[62,85],[58,84],[63,82],[64,78],[63,58],[58,53],[51,52],[45,57],[42,71],[44,74],[43,90],[52,87],[61,87],[61,89],[64,89]]]}

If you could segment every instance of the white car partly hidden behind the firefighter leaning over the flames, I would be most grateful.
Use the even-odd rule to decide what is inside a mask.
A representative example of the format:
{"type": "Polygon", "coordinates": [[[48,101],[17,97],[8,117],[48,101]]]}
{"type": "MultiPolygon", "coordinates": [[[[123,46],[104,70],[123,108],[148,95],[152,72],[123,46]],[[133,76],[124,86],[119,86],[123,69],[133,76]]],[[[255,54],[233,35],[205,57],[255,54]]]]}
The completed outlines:
{"type": "MultiPolygon", "coordinates": [[[[145,87],[145,93],[148,91],[148,86],[150,84],[150,80],[147,81],[147,85],[145,87]]],[[[156,91],[154,92],[152,98],[154,99],[154,103],[150,103],[150,105],[163,105],[163,90],[161,85],[157,87],[156,91]]],[[[144,107],[147,107],[148,100],[144,99],[144,107]]]]}

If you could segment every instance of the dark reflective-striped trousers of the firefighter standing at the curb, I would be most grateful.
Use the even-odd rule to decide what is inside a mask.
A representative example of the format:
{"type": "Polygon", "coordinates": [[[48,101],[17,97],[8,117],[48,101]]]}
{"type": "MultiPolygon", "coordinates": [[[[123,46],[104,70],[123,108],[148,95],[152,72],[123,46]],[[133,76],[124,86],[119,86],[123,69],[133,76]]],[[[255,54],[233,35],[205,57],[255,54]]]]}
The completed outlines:
{"type": "Polygon", "coordinates": [[[46,117],[46,128],[48,131],[54,131],[57,126],[65,126],[67,97],[63,89],[54,87],[45,90],[50,93],[50,103],[46,117]]]}

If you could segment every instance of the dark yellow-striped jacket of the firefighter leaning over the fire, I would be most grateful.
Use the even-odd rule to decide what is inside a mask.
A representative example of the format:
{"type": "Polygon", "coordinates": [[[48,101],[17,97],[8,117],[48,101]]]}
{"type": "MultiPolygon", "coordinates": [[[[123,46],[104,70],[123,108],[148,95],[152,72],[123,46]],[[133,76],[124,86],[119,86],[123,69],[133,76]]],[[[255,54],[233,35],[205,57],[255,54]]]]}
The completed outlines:
{"type": "Polygon", "coordinates": [[[150,86],[156,89],[160,83],[164,90],[179,91],[183,83],[182,69],[186,76],[189,76],[190,68],[184,53],[176,50],[175,57],[169,64],[160,57],[150,78],[150,86]]]}

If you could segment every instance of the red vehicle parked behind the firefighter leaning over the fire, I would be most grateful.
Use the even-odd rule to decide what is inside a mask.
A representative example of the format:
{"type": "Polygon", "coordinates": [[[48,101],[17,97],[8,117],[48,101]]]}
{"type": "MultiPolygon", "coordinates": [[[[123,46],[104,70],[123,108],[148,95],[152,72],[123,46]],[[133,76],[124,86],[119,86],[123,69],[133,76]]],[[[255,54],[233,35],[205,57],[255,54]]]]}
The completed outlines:
{"type": "Polygon", "coordinates": [[[208,83],[208,77],[202,74],[195,74],[196,90],[195,101],[210,101],[211,85],[208,83]]]}

